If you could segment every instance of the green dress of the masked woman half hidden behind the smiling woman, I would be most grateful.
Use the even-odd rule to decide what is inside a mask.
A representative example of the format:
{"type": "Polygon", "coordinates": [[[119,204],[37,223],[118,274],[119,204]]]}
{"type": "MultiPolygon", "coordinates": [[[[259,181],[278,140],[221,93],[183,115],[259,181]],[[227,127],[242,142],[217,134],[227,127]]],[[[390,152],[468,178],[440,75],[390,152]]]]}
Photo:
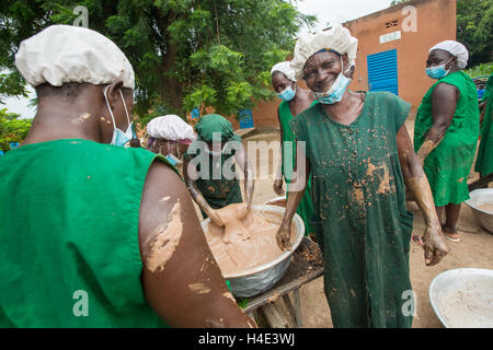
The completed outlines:
{"type": "MultiPolygon", "coordinates": [[[[317,104],[317,102],[313,102],[311,105],[313,106],[317,104]]],[[[285,101],[283,101],[279,105],[279,120],[280,120],[280,127],[283,128],[283,144],[285,142],[293,142],[293,153],[286,154],[285,150],[283,148],[283,176],[286,179],[287,187],[289,189],[289,184],[291,182],[293,176],[293,168],[295,166],[295,158],[296,158],[296,147],[294,144],[295,136],[289,128],[289,121],[293,119],[291,110],[289,109],[289,104],[285,101]],[[288,165],[288,172],[286,172],[285,164],[286,164],[286,156],[289,156],[291,160],[291,165],[288,165]]],[[[309,233],[313,233],[313,230],[310,226],[310,220],[313,215],[313,205],[311,203],[310,198],[311,192],[311,180],[308,182],[307,189],[305,191],[303,198],[301,199],[301,202],[298,206],[298,209],[296,212],[301,217],[305,223],[305,235],[308,235],[309,233]]],[[[286,191],[286,198],[289,196],[289,190],[286,191]]]]}

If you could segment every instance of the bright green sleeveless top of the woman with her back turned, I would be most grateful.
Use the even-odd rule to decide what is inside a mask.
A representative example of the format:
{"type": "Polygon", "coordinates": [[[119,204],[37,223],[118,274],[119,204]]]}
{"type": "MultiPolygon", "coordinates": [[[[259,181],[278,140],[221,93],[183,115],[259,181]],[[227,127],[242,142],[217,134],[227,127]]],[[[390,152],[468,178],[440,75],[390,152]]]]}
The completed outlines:
{"type": "Polygon", "coordinates": [[[145,300],[144,149],[33,143],[0,159],[0,327],[163,327],[145,300]]]}

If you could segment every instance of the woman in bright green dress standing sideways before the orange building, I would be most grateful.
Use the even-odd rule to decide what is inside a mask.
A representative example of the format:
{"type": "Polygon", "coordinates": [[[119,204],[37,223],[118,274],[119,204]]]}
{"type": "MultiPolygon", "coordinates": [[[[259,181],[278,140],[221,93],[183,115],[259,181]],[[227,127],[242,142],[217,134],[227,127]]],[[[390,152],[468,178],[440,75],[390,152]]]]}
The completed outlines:
{"type": "Polygon", "coordinates": [[[439,219],[445,211],[445,237],[452,242],[460,241],[456,225],[461,203],[469,199],[468,176],[479,137],[478,93],[461,70],[468,57],[467,48],[454,40],[432,47],[426,74],[437,82],[423,97],[414,129],[414,150],[424,164],[439,219]]]}

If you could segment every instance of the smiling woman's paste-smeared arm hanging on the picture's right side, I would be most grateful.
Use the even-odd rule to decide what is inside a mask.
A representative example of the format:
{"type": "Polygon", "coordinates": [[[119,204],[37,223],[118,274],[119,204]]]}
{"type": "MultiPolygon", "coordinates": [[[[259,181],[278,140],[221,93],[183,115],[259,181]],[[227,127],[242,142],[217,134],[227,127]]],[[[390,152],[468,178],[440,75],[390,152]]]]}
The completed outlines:
{"type": "Polygon", "coordinates": [[[414,195],[426,225],[423,235],[425,262],[428,266],[433,266],[438,264],[447,255],[448,248],[445,244],[440,221],[435,210],[432,189],[429,188],[423,166],[414,153],[405,125],[399,130],[397,141],[405,185],[414,195]]]}

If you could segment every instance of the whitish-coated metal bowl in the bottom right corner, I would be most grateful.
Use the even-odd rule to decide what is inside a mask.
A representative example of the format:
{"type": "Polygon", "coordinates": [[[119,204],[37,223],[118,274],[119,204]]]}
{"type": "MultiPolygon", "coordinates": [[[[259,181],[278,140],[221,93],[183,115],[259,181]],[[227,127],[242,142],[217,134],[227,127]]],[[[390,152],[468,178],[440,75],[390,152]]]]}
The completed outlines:
{"type": "Polygon", "coordinates": [[[493,328],[493,270],[442,272],[429,284],[429,302],[446,328],[493,328]]]}

